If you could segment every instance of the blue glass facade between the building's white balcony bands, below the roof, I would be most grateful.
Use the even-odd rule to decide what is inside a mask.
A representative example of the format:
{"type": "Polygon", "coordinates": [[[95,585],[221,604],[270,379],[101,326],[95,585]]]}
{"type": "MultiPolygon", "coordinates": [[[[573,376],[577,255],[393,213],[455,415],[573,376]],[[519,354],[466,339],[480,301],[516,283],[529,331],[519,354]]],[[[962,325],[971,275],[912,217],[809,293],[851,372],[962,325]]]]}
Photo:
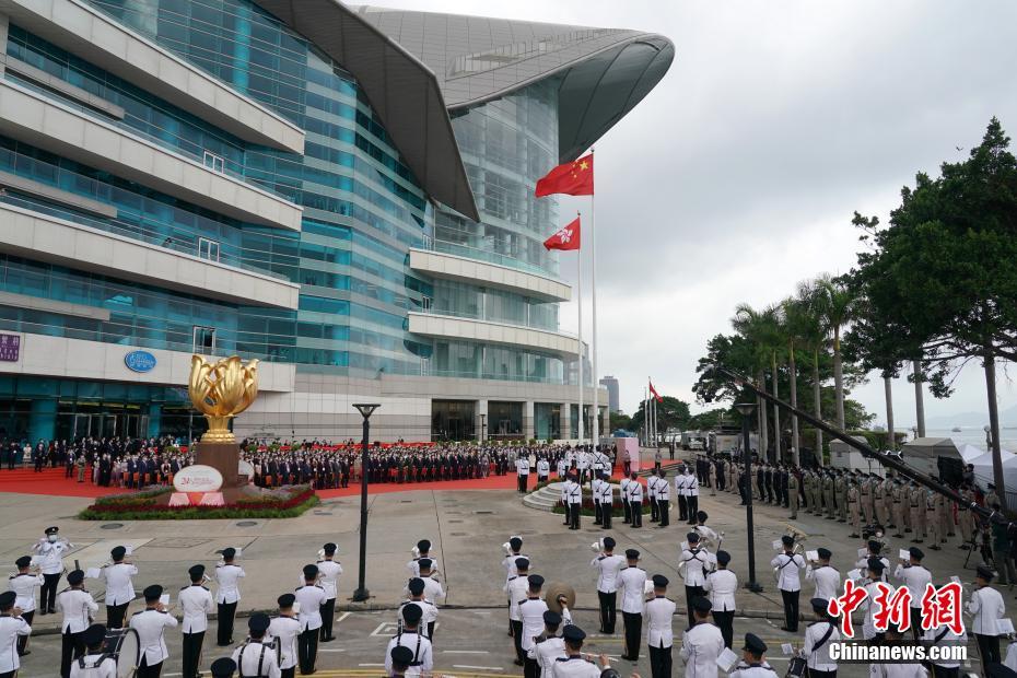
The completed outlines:
{"type": "Polygon", "coordinates": [[[559,355],[407,331],[407,313],[429,309],[557,331],[554,303],[430,280],[408,266],[411,247],[433,247],[557,273],[541,243],[557,225],[558,206],[533,198],[536,179],[557,159],[554,81],[454,117],[481,211],[481,221],[472,222],[429,202],[349,72],[247,0],[87,1],[305,130],[304,154],[238,139],[16,20],[10,58],[125,115],[103,116],[13,70],[3,77],[197,162],[208,165],[211,154],[225,174],[302,206],[302,231],[227,218],[2,136],[0,171],[115,207],[116,217],[23,191],[8,191],[0,201],[290,280],[301,285],[299,307],[229,304],[7,256],[0,257],[0,291],[105,308],[110,318],[0,307],[0,328],[189,352],[195,327],[214,327],[217,352],[293,362],[301,372],[570,381],[574,370],[559,355]]]}

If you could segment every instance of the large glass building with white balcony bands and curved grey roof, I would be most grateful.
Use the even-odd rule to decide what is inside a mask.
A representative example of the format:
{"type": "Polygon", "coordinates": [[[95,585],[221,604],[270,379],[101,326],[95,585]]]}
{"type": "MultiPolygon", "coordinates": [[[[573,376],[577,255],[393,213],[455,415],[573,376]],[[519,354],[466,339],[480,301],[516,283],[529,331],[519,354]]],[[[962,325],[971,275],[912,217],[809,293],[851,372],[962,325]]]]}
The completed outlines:
{"type": "Polygon", "coordinates": [[[364,398],[382,440],[576,429],[534,184],[648,93],[666,38],[330,0],[4,8],[0,436],[198,434],[191,353],[262,361],[242,435],[356,436],[364,398]]]}

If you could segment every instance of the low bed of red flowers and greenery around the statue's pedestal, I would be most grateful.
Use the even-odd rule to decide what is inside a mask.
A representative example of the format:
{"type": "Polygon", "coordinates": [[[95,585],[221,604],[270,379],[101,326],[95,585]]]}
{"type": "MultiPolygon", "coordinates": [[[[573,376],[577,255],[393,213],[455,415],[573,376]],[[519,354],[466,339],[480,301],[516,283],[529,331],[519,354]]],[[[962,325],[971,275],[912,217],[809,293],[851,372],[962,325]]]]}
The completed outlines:
{"type": "Polygon", "coordinates": [[[170,506],[173,488],[102,496],[82,511],[83,521],[175,521],[195,518],[294,518],[318,503],[311,486],[288,486],[244,496],[224,506],[170,506]]]}

